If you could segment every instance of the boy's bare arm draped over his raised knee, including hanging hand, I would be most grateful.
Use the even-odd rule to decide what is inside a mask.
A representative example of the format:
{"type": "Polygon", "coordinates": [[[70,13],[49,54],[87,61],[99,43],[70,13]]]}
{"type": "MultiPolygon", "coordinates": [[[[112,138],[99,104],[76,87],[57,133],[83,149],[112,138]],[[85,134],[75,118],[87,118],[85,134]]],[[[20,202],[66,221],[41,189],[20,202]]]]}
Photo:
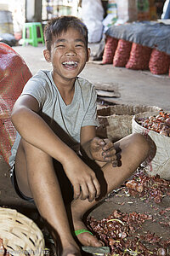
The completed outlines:
{"type": "Polygon", "coordinates": [[[12,121],[20,136],[62,164],[74,187],[75,199],[81,196],[82,200],[93,201],[100,193],[94,172],[56,136],[38,115],[38,110],[38,102],[33,96],[23,95],[15,102],[12,121]]]}

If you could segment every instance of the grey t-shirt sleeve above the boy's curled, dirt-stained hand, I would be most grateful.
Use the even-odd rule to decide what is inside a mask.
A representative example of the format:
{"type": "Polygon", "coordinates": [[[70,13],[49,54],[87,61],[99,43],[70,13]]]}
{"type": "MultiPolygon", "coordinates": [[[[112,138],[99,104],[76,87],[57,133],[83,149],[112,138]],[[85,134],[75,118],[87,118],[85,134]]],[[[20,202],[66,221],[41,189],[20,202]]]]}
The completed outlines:
{"type": "Polygon", "coordinates": [[[89,96],[88,109],[82,122],[82,126],[87,125],[99,126],[97,117],[97,93],[94,86],[92,87],[91,96],[89,96]]]}

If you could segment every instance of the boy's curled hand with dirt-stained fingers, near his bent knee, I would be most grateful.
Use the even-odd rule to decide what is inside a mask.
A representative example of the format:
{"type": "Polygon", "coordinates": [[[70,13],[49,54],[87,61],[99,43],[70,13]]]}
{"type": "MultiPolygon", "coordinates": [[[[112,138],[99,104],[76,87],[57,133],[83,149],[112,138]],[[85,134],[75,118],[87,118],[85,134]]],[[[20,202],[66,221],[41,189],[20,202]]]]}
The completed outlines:
{"type": "Polygon", "coordinates": [[[94,137],[90,143],[90,153],[94,160],[112,162],[112,166],[117,166],[116,149],[109,139],[94,137]]]}

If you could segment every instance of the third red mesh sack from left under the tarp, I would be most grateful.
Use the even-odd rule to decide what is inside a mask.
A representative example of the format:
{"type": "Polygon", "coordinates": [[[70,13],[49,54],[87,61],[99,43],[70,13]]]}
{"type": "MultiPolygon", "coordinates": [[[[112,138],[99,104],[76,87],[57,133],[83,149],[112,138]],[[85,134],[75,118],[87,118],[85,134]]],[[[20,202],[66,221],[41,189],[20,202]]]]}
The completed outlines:
{"type": "Polygon", "coordinates": [[[129,69],[149,69],[151,48],[133,43],[126,67],[129,69]]]}

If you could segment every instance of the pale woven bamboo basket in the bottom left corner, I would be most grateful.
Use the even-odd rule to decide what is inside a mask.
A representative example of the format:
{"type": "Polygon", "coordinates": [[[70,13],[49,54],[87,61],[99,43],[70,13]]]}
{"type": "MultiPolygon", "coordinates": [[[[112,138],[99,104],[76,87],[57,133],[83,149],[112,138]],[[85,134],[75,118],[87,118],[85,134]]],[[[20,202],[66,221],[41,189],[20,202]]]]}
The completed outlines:
{"type": "Polygon", "coordinates": [[[0,207],[0,238],[11,255],[44,253],[42,231],[30,218],[16,210],[0,207]]]}

